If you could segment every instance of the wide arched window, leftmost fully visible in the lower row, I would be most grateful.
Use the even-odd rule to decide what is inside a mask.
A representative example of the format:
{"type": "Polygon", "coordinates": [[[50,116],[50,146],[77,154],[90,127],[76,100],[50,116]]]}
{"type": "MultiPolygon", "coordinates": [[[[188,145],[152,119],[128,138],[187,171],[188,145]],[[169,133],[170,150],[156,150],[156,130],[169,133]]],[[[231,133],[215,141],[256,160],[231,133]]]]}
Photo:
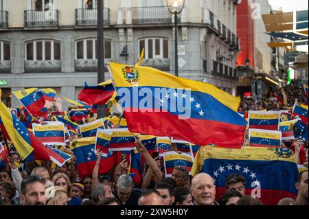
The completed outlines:
{"type": "Polygon", "coordinates": [[[25,60],[60,60],[60,42],[32,41],[26,43],[25,60]]]}

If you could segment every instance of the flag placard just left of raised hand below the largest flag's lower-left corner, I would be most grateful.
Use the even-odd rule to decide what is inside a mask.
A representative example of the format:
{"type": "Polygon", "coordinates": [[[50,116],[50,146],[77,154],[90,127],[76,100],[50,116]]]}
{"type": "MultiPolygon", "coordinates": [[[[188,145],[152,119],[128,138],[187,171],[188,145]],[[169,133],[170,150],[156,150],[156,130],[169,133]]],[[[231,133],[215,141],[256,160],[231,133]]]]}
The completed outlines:
{"type": "Polygon", "coordinates": [[[111,129],[111,143],[109,151],[130,151],[134,150],[135,134],[128,128],[111,129]]]}

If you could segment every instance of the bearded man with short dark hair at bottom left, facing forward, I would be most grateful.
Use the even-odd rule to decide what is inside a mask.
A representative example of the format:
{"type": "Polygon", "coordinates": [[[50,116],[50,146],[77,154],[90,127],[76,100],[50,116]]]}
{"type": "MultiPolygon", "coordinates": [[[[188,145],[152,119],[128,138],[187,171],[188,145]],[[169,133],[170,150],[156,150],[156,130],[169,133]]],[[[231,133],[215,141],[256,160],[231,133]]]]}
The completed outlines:
{"type": "Polygon", "coordinates": [[[21,182],[22,205],[45,205],[45,181],[41,176],[26,176],[21,182]]]}

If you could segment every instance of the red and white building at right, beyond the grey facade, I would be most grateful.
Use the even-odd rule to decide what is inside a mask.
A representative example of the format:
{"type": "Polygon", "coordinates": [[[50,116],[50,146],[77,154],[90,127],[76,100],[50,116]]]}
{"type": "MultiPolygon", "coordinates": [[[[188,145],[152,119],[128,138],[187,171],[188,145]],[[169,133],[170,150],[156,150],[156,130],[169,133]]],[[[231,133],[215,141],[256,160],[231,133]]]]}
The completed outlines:
{"type": "Polygon", "coordinates": [[[238,5],[237,34],[242,51],[238,55],[238,95],[251,93],[262,97],[275,91],[284,74],[284,50],[268,47],[271,36],[266,34],[262,14],[270,14],[268,0],[244,0],[238,5]]]}

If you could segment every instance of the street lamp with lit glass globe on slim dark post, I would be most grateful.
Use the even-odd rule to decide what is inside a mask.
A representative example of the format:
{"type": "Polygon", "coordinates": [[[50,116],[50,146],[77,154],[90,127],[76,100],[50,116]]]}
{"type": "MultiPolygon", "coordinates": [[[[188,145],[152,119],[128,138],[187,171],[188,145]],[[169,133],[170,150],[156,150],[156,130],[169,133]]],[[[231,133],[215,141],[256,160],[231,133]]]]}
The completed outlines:
{"type": "Polygon", "coordinates": [[[166,0],[168,10],[174,14],[175,23],[175,76],[178,77],[178,27],[177,27],[177,14],[180,14],[185,6],[185,0],[166,0]]]}

